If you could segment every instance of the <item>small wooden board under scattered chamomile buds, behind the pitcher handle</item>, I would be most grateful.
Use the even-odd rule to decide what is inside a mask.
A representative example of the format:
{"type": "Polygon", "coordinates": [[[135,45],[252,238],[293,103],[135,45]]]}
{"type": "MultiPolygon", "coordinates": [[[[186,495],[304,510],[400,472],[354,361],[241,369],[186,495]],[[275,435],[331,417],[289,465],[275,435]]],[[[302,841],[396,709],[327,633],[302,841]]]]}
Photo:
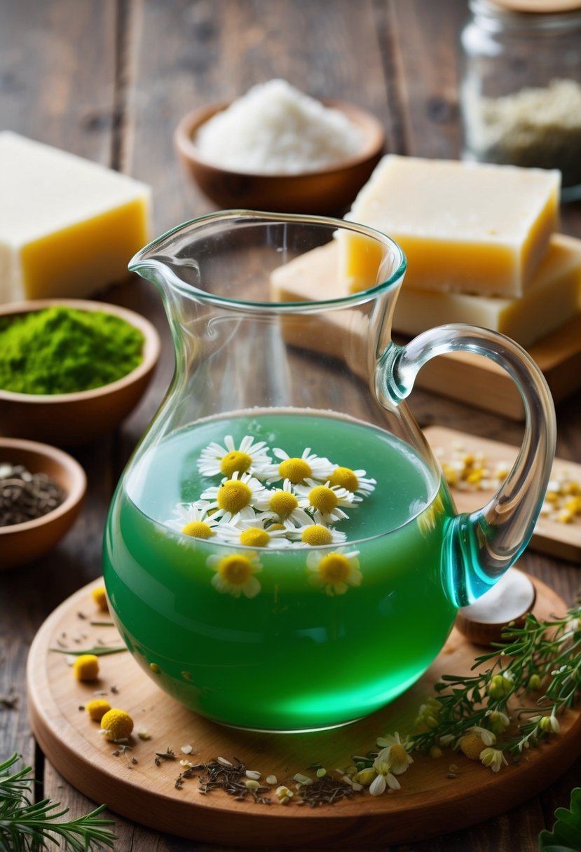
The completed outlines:
{"type": "MultiPolygon", "coordinates": [[[[462,446],[466,452],[483,452],[490,466],[495,462],[513,463],[518,453],[518,447],[503,444],[500,441],[486,440],[475,435],[467,435],[454,429],[442,426],[429,426],[423,430],[429,445],[434,451],[441,450],[440,463],[443,459],[452,458],[455,446],[462,446]]],[[[569,476],[581,486],[581,464],[567,462],[555,458],[553,463],[555,475],[569,476]]],[[[459,512],[474,512],[484,506],[492,497],[493,491],[460,491],[452,488],[452,496],[459,512]]],[[[549,521],[539,516],[529,547],[540,550],[560,559],[568,559],[581,563],[581,515],[577,515],[570,523],[549,521]]]]}

